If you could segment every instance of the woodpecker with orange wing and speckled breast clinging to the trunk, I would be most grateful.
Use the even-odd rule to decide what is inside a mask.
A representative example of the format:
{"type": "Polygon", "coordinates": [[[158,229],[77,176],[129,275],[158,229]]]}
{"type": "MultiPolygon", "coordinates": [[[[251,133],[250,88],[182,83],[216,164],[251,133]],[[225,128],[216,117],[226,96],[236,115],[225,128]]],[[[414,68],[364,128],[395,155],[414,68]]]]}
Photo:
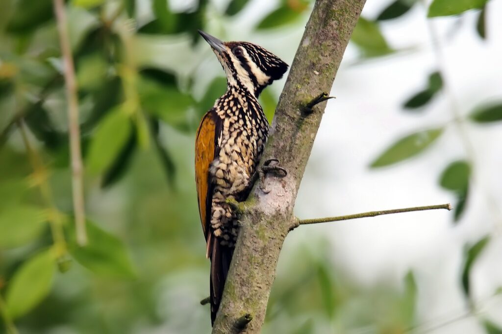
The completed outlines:
{"type": "MultiPolygon", "coordinates": [[[[226,74],[226,92],[202,117],[195,140],[195,183],[206,258],[211,261],[211,325],[221,302],[238,234],[237,215],[228,200],[244,201],[267,141],[269,123],[258,97],[279,80],[288,64],[248,42],[222,42],[199,30],[226,74]]],[[[271,171],[270,162],[268,170],[271,171]]],[[[279,170],[282,170],[278,167],[279,170]]],[[[284,174],[286,172],[282,170],[284,174]]]]}

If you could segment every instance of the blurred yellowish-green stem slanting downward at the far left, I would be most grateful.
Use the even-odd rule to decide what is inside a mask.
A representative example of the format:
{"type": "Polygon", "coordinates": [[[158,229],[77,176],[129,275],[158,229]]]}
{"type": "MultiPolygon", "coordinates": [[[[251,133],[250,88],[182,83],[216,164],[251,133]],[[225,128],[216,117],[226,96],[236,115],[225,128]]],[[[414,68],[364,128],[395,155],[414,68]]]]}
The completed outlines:
{"type": "Polygon", "coordinates": [[[33,149],[30,143],[30,139],[28,138],[28,134],[26,133],[23,121],[20,120],[17,124],[26,147],[28,159],[30,160],[30,164],[33,169],[33,182],[40,188],[42,199],[44,200],[47,208],[50,211],[48,215],[48,221],[50,223],[54,245],[59,252],[58,255],[62,256],[66,252],[66,241],[64,239],[64,231],[62,227],[63,222],[61,220],[61,215],[59,214],[59,211],[54,204],[51,187],[47,182],[48,172],[45,169],[44,164],[42,163],[42,158],[37,153],[37,151],[33,149]]]}

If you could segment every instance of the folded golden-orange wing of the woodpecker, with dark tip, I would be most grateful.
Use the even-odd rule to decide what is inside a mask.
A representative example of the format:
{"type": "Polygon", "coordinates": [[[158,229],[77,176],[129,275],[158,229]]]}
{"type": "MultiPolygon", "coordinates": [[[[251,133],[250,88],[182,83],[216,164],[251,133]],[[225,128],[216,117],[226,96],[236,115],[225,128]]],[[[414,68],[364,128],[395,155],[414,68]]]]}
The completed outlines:
{"type": "Polygon", "coordinates": [[[219,153],[217,147],[219,133],[217,132],[220,126],[218,121],[220,122],[219,117],[215,115],[214,110],[209,110],[202,118],[195,137],[195,184],[197,186],[200,221],[208,243],[213,188],[209,177],[209,167],[219,153]]]}

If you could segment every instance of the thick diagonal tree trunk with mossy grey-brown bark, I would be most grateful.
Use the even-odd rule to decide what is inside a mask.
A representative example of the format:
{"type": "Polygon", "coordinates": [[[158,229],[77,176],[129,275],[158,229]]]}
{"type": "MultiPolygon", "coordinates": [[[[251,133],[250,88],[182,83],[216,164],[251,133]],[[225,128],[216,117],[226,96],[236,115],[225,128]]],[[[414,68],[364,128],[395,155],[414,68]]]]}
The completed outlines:
{"type": "Polygon", "coordinates": [[[213,333],[259,333],[277,261],[288,232],[298,225],[293,207],[326,102],[304,106],[329,92],[365,0],[318,0],[305,28],[277,106],[262,161],[276,158],[288,171],[268,177],[270,193],[254,188],[239,206],[241,229],[213,333]],[[239,319],[253,319],[244,328],[239,319]]]}

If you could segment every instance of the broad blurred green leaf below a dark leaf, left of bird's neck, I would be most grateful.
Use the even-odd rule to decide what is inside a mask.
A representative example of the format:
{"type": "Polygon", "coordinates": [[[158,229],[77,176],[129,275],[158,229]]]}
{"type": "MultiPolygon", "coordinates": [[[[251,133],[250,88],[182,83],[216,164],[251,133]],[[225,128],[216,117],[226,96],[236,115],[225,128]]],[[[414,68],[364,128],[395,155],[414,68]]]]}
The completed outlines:
{"type": "Polygon", "coordinates": [[[174,85],[161,85],[146,78],[138,84],[145,111],[179,130],[190,129],[187,111],[195,105],[191,95],[180,92],[174,85]]]}

